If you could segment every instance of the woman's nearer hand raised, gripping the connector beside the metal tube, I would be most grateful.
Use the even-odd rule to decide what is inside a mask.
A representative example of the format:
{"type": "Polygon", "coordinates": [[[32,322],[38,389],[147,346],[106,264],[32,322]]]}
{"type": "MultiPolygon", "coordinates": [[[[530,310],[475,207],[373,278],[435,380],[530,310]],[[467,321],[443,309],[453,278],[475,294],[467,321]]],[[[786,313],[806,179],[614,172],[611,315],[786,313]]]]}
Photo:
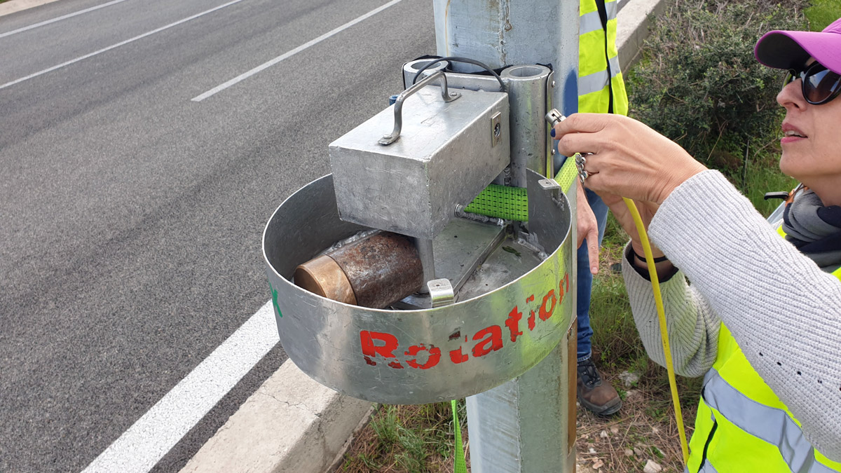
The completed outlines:
{"type": "Polygon", "coordinates": [[[643,123],[616,114],[572,114],[554,127],[558,151],[585,156],[584,181],[598,194],[662,204],[686,179],[704,171],[674,141],[643,123]]]}

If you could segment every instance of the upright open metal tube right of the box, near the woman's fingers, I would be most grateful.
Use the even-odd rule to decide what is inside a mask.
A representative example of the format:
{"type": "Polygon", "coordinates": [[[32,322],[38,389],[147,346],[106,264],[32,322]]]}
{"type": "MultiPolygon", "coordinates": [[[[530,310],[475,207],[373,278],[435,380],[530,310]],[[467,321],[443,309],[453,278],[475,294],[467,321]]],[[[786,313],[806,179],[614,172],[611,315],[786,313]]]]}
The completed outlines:
{"type": "Polygon", "coordinates": [[[512,66],[502,72],[508,84],[511,134],[511,185],[526,187],[526,169],[546,175],[545,66],[512,66]]]}

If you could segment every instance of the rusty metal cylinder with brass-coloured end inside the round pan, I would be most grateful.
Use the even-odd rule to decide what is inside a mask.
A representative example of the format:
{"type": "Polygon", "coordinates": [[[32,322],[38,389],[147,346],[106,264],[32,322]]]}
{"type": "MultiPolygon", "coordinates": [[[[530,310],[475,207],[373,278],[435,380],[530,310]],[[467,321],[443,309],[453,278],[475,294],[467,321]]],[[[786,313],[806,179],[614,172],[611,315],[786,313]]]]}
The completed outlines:
{"type": "Polygon", "coordinates": [[[421,289],[423,267],[409,237],[380,231],[295,268],[295,284],[327,299],[382,309],[421,289]]]}

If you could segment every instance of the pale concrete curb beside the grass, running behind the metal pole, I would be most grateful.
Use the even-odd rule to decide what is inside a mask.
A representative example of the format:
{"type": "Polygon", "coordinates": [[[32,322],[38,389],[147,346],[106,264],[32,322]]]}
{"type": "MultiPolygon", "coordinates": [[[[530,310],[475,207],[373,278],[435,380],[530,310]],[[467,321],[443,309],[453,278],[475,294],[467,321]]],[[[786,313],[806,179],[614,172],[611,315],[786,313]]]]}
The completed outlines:
{"type": "MultiPolygon", "coordinates": [[[[664,0],[627,0],[618,13],[616,46],[622,70],[638,60],[649,15],[664,0]]],[[[367,401],[342,396],[287,360],[182,473],[323,473],[341,463],[349,438],[373,412],[367,401]]],[[[584,466],[585,468],[585,466],[584,466]]]]}

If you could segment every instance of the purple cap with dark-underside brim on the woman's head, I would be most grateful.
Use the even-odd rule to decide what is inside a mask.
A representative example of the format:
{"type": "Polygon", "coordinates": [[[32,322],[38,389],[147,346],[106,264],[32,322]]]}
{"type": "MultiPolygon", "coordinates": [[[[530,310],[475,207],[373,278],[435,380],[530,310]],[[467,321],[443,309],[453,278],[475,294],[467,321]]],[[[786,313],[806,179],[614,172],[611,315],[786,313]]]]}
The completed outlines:
{"type": "Polygon", "coordinates": [[[757,61],[777,69],[792,69],[806,64],[809,57],[832,72],[841,74],[841,19],[821,32],[769,31],[754,48],[757,61]]]}

